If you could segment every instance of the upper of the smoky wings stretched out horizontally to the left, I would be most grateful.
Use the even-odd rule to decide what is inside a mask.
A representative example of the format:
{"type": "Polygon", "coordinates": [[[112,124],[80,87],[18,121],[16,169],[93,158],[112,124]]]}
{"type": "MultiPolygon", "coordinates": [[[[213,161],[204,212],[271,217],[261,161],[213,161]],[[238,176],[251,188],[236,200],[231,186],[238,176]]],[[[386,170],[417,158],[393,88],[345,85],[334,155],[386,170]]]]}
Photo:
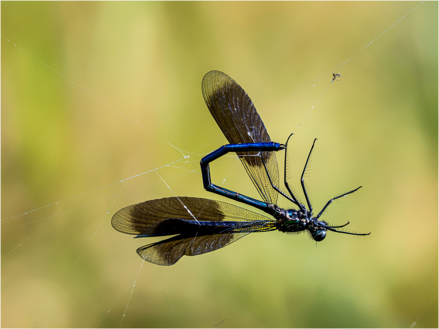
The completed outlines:
{"type": "Polygon", "coordinates": [[[113,216],[112,226],[119,232],[128,234],[138,235],[148,232],[148,236],[163,236],[182,233],[178,229],[186,224],[179,222],[178,219],[200,222],[270,221],[270,218],[263,215],[220,201],[170,197],[148,200],[123,208],[113,216]],[[172,225],[158,225],[159,222],[170,218],[176,219],[173,223],[169,222],[172,225]]]}

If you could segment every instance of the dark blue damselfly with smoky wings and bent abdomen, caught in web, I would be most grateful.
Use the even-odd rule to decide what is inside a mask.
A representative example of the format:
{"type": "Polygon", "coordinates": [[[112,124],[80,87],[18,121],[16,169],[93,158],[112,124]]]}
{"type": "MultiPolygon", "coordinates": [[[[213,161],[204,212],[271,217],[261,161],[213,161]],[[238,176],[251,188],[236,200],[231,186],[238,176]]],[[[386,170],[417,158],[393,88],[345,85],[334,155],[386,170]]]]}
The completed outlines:
{"type": "MultiPolygon", "coordinates": [[[[333,76],[335,79],[340,75],[333,76]]],[[[334,226],[319,220],[334,200],[355,192],[361,186],[333,197],[313,217],[303,176],[317,139],[314,139],[300,178],[306,207],[291,191],[286,179],[288,141],[293,134],[285,144],[272,142],[250,97],[223,72],[207,73],[202,81],[202,93],[210,113],[230,143],[201,159],[205,190],[255,207],[274,219],[225,202],[196,197],[169,197],[134,204],[113,216],[112,226],[116,230],[135,234],[136,238],[174,235],[138,248],[140,257],[158,265],[173,265],[184,255],[195,256],[217,250],[252,232],[307,231],[316,242],[322,241],[327,231],[362,236],[370,234],[338,230],[349,222],[334,226]],[[275,152],[279,150],[285,150],[284,185],[289,195],[277,187],[279,170],[275,152]],[[236,152],[263,201],[212,184],[209,163],[228,152],[236,152]],[[298,209],[277,206],[278,194],[298,209]]]]}

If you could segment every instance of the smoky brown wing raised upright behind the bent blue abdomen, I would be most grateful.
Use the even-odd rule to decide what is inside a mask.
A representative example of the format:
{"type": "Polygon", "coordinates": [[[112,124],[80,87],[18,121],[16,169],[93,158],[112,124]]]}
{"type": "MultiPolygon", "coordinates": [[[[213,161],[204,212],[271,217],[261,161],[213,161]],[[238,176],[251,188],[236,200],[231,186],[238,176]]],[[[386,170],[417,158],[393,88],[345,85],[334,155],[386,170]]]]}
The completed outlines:
{"type": "MultiPolygon", "coordinates": [[[[202,81],[203,97],[210,113],[231,144],[271,142],[252,100],[244,89],[219,71],[207,73],[202,81]]],[[[274,152],[236,152],[263,199],[276,204],[277,192],[266,175],[264,159],[271,180],[278,185],[279,171],[274,152]]]]}

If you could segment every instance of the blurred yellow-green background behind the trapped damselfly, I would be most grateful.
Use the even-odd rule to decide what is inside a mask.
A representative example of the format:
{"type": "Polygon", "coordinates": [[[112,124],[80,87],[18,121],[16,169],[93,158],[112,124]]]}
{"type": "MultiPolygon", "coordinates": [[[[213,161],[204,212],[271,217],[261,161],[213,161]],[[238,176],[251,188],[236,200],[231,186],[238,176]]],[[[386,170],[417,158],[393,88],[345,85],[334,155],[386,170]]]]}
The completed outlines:
{"type": "MultiPolygon", "coordinates": [[[[438,2],[375,39],[419,3],[2,1],[1,326],[437,327],[438,2]],[[362,185],[324,220],[370,236],[255,233],[140,267],[154,239],[115,231],[116,211],[233,203],[199,172],[227,143],[201,93],[211,70],[273,141],[295,131],[291,185],[319,139],[314,207],[362,185]]],[[[211,169],[258,197],[236,157],[211,169]]]]}

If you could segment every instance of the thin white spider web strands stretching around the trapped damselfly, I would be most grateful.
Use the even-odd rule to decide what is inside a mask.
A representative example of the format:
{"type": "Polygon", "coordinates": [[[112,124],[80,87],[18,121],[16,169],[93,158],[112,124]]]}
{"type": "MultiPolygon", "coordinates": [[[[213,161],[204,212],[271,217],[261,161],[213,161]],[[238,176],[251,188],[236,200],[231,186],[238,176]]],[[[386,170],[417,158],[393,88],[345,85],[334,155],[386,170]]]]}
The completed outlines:
{"type": "MultiPolygon", "coordinates": [[[[412,11],[416,9],[419,5],[420,4],[414,7],[412,11]]],[[[398,23],[401,19],[403,19],[406,16],[407,14],[404,15],[402,18],[400,18],[396,23],[398,23]]],[[[302,112],[301,115],[299,115],[298,124],[295,126],[295,129],[292,132],[295,132],[296,134],[298,133],[298,129],[300,128],[301,125],[306,123],[306,119],[309,117],[310,113],[315,108],[317,108],[319,102],[324,99],[325,94],[335,86],[337,81],[334,82],[331,81],[332,73],[341,74],[342,76],[338,79],[343,79],[343,69],[345,68],[345,65],[348,64],[349,61],[351,61],[358,54],[360,54],[360,52],[367,49],[367,47],[370,47],[371,44],[376,39],[382,36],[389,29],[391,29],[395,24],[391,25],[388,29],[386,29],[384,32],[382,32],[372,41],[367,43],[362,49],[360,49],[356,54],[354,54],[352,57],[347,59],[345,62],[339,64],[338,66],[332,68],[331,70],[328,70],[327,72],[322,73],[319,77],[313,79],[311,82],[306,82],[303,84],[302,89],[307,89],[312,91],[314,95],[313,104],[310,104],[310,106],[307,107],[306,106],[302,107],[302,112]]],[[[115,107],[110,105],[108,101],[99,98],[97,93],[95,94],[94,92],[90,91],[91,88],[84,88],[78,82],[72,81],[67,75],[64,75],[62,72],[60,73],[54,68],[52,68],[50,64],[40,61],[37,57],[27,52],[25,48],[22,48],[21,45],[14,43],[12,40],[7,39],[7,37],[5,36],[2,37],[6,39],[9,43],[14,45],[15,47],[18,47],[24,53],[33,57],[36,61],[39,61],[41,64],[43,64],[44,66],[55,72],[56,74],[59,74],[62,78],[66,79],[72,85],[75,85],[75,87],[79,88],[81,92],[88,93],[90,97],[93,97],[97,101],[101,102],[102,105],[105,104],[105,107],[107,107],[108,111],[114,111],[115,113],[121,115],[122,118],[124,118],[125,122],[128,122],[128,125],[133,127],[132,129],[143,129],[145,132],[144,134],[145,140],[148,138],[146,136],[150,137],[148,139],[148,143],[155,143],[155,142],[162,143],[164,145],[163,152],[173,154],[173,159],[171,161],[164,161],[162,163],[159,163],[157,166],[148,168],[148,170],[144,172],[135,173],[118,181],[108,182],[108,184],[105,184],[95,189],[81,191],[79,194],[75,194],[71,197],[63,198],[62,200],[58,200],[47,205],[42,205],[41,207],[37,207],[35,209],[25,211],[21,214],[8,216],[7,218],[2,218],[1,219],[2,233],[3,233],[2,236],[5,236],[5,234],[9,234],[7,232],[11,232],[13,230],[20,230],[20,229],[23,230],[22,239],[16,241],[14,248],[10,250],[4,250],[2,255],[2,260],[7,260],[8,258],[14,257],[14,253],[18,252],[18,250],[20,250],[21,248],[26,248],[26,245],[29,243],[29,240],[40,239],[41,231],[44,231],[44,229],[47,228],[48,225],[56,221],[59,222],[60,218],[61,220],[72,220],[72,216],[68,217],[68,215],[77,214],[77,213],[80,214],[81,209],[84,207],[99,206],[99,212],[101,213],[99,220],[95,219],[94,222],[92,222],[89,225],[89,227],[86,229],[87,231],[86,234],[89,236],[89,241],[90,241],[89,243],[93,243],[93,240],[96,239],[96,236],[99,235],[99,232],[103,229],[102,227],[104,225],[108,225],[111,216],[121,208],[121,205],[118,204],[118,201],[120,200],[121,197],[130,196],[133,195],[134,193],[136,194],[138,193],[138,195],[140,194],[140,197],[137,196],[137,198],[140,199],[137,201],[139,202],[144,201],[142,199],[141,192],[146,189],[154,190],[158,186],[162,186],[160,187],[160,189],[163,188],[164,190],[170,192],[170,194],[168,193],[168,196],[187,195],[187,193],[181,194],[180,191],[176,191],[174,187],[177,185],[176,183],[174,183],[175,181],[182,179],[182,177],[185,177],[187,175],[191,175],[191,177],[192,176],[196,177],[195,181],[198,181],[199,186],[202,186],[201,175],[199,173],[199,168],[198,168],[199,160],[201,159],[201,157],[208,154],[210,151],[213,151],[217,147],[223,145],[224,139],[223,136],[220,134],[220,132],[218,133],[218,136],[215,139],[210,139],[208,143],[204,143],[204,142],[198,143],[198,147],[195,150],[190,150],[190,151],[182,150],[180,145],[178,145],[177,143],[168,142],[168,140],[170,139],[169,137],[158,136],[157,134],[155,134],[153,128],[149,127],[145,123],[141,123],[141,121],[137,120],[136,118],[131,118],[129,114],[126,114],[129,113],[129,111],[125,111],[120,107],[115,107]],[[164,172],[166,174],[166,177],[163,174],[164,172]],[[148,177],[148,179],[145,179],[145,177],[148,177]],[[102,209],[104,209],[105,211],[102,212],[102,209]],[[35,230],[35,229],[27,230],[26,228],[31,225],[38,225],[42,230],[35,230]],[[29,233],[29,231],[31,232],[29,233]]],[[[232,78],[234,77],[232,76],[232,78]]],[[[239,83],[239,79],[237,79],[237,82],[239,83]]],[[[281,111],[286,111],[284,109],[286,108],[288,109],[289,107],[291,107],[291,98],[293,98],[294,95],[301,93],[302,89],[298,89],[295,91],[295,93],[291,93],[288,97],[284,97],[282,100],[279,101],[279,104],[273,104],[273,107],[280,108],[281,111]]],[[[251,90],[246,90],[246,91],[250,94],[250,96],[252,96],[251,90]]],[[[259,109],[259,107],[257,108],[259,109]]],[[[263,111],[260,109],[259,109],[259,114],[262,116],[263,119],[266,117],[263,111]]],[[[276,138],[272,138],[272,139],[277,142],[283,142],[283,140],[277,140],[276,138]]],[[[141,143],[141,142],[137,141],[137,143],[141,143]]],[[[283,154],[281,154],[281,152],[278,152],[277,156],[279,162],[282,162],[281,160],[282,155],[283,154]]],[[[226,183],[227,176],[229,175],[229,172],[231,170],[230,167],[232,167],[234,164],[237,163],[236,156],[230,156],[228,158],[226,157],[224,158],[225,160],[221,158],[215,161],[214,164],[211,164],[212,178],[216,176],[214,174],[216,168],[219,168],[220,166],[227,167],[227,171],[225,173],[219,174],[216,176],[216,178],[213,178],[213,182],[216,182],[217,184],[221,181],[222,184],[226,183]],[[218,179],[218,177],[221,177],[221,179],[218,179]]],[[[165,195],[163,195],[163,197],[164,196],[165,195]]],[[[206,196],[205,194],[204,197],[214,198],[213,195],[206,196]]],[[[132,203],[134,204],[137,201],[133,200],[132,203]]],[[[226,200],[226,202],[229,201],[226,200]]],[[[122,205],[122,207],[124,207],[124,205],[122,205]]],[[[135,248],[133,248],[133,252],[134,250],[135,248]]],[[[72,270],[74,270],[74,268],[78,266],[78,263],[81,262],[82,256],[83,256],[82,252],[77,253],[76,260],[72,264],[72,270]]],[[[131,281],[131,284],[128,286],[128,288],[126,284],[121,283],[121,288],[120,288],[122,292],[121,295],[119,297],[115,297],[113,301],[110,301],[108,303],[110,307],[108,308],[108,311],[102,315],[100,322],[96,324],[97,326],[104,323],[103,321],[108,316],[108,314],[115,312],[113,311],[114,305],[119,303],[119,300],[123,300],[125,298],[125,300],[123,300],[122,302],[122,304],[125,304],[125,308],[123,311],[123,315],[121,316],[121,322],[120,322],[120,326],[122,327],[126,316],[127,315],[129,316],[129,306],[132,300],[132,296],[135,293],[136,284],[138,284],[140,280],[142,280],[141,269],[144,267],[144,265],[145,263],[141,261],[140,267],[136,268],[136,271],[134,271],[135,273],[133,273],[133,281],[131,281]]],[[[149,270],[147,269],[147,271],[149,270]]],[[[148,274],[150,273],[147,272],[145,276],[148,276],[148,274]]],[[[157,282],[158,286],[161,286],[160,289],[162,289],[162,292],[166,294],[169,301],[170,314],[172,317],[174,317],[174,313],[172,311],[172,304],[170,300],[172,294],[169,293],[169,289],[163,287],[161,279],[157,277],[154,279],[157,282]]],[[[173,321],[175,321],[175,319],[173,321]]],[[[219,319],[219,321],[221,321],[221,318],[219,319]]]]}

